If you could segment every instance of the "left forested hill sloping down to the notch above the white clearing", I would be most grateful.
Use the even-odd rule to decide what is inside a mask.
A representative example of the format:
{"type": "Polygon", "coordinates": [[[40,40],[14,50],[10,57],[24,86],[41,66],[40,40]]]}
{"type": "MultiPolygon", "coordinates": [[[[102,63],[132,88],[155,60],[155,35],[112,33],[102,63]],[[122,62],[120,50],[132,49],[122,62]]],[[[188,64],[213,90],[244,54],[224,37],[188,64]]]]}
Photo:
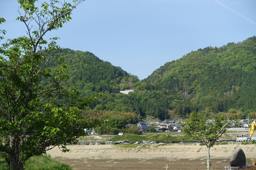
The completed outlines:
{"type": "MultiPolygon", "coordinates": [[[[53,56],[55,61],[59,56],[63,56],[69,66],[67,73],[72,78],[69,82],[71,87],[80,90],[82,96],[110,91],[110,89],[130,89],[134,87],[136,81],[139,81],[137,76],[99,59],[90,52],[64,48],[59,49],[53,56]]],[[[54,68],[56,64],[52,63],[50,67],[54,68]]]]}

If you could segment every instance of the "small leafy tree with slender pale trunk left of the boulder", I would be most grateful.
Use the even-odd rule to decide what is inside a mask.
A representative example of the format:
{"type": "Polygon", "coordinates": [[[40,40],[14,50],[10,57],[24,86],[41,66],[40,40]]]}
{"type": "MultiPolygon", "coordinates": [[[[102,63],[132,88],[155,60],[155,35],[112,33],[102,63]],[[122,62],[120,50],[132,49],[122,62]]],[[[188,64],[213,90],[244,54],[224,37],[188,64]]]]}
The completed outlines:
{"type": "Polygon", "coordinates": [[[231,120],[227,120],[222,114],[209,114],[204,111],[197,113],[193,111],[189,119],[185,121],[183,132],[190,137],[191,140],[201,140],[207,147],[207,170],[210,170],[210,147],[213,147],[215,142],[223,133],[231,127],[231,120]],[[209,119],[214,119],[213,122],[207,122],[209,119]]]}

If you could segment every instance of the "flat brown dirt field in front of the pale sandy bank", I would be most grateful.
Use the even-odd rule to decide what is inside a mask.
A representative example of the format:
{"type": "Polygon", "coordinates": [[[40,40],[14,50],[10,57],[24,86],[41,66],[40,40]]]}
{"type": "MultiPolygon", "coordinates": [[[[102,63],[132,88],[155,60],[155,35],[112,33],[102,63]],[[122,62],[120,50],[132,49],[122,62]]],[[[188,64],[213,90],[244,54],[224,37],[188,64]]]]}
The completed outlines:
{"type": "MultiPolygon", "coordinates": [[[[69,159],[56,157],[74,170],[206,170],[206,159],[69,159]]],[[[211,159],[212,169],[224,170],[229,159],[211,159]]],[[[247,160],[247,164],[250,164],[247,160]]]]}

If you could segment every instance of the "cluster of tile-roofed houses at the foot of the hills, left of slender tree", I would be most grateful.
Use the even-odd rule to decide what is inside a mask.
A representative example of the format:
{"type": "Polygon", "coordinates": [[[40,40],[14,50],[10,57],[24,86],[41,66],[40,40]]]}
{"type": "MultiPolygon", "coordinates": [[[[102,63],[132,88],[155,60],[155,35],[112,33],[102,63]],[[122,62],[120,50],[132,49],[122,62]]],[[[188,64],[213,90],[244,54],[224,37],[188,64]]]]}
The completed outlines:
{"type": "Polygon", "coordinates": [[[181,132],[181,122],[183,121],[182,117],[178,117],[178,119],[170,120],[170,121],[162,121],[162,122],[139,122],[137,123],[137,127],[141,132],[149,132],[149,128],[154,126],[155,132],[181,132]]]}

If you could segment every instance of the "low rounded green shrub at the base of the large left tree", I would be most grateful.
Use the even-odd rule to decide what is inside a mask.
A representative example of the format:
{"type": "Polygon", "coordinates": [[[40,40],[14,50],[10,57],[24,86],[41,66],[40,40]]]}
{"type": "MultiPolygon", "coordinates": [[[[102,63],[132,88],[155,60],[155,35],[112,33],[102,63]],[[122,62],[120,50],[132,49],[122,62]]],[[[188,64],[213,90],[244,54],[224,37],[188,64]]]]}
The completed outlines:
{"type": "Polygon", "coordinates": [[[33,156],[24,164],[25,170],[72,170],[62,162],[56,161],[50,155],[33,156]]]}

